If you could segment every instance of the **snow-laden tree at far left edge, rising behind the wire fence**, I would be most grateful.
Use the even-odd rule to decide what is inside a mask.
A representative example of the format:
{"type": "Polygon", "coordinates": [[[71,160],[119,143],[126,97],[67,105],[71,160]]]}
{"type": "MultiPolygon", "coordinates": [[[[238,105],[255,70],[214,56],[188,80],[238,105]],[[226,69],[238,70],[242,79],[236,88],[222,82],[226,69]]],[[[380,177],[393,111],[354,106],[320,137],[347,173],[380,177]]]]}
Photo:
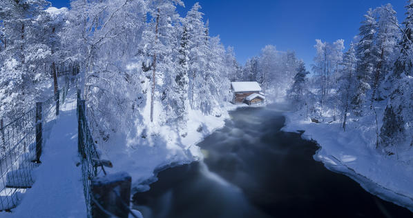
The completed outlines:
{"type": "Polygon", "coordinates": [[[50,34],[44,32],[48,1],[1,1],[0,116],[13,117],[32,106],[49,79],[44,64],[50,59],[50,34]],[[46,34],[45,34],[46,33],[46,34]]]}

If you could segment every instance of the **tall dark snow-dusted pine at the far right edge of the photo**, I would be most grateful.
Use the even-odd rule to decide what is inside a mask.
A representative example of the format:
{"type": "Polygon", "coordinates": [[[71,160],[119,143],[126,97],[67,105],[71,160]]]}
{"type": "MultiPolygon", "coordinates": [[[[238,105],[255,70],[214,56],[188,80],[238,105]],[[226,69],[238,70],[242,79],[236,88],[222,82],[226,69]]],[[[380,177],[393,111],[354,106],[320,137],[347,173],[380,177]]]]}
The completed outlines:
{"type": "Polygon", "coordinates": [[[403,21],[405,28],[402,32],[401,52],[394,64],[392,75],[394,90],[384,112],[378,143],[383,151],[388,146],[399,144],[413,146],[413,0],[408,1],[405,8],[407,17],[403,21]]]}

